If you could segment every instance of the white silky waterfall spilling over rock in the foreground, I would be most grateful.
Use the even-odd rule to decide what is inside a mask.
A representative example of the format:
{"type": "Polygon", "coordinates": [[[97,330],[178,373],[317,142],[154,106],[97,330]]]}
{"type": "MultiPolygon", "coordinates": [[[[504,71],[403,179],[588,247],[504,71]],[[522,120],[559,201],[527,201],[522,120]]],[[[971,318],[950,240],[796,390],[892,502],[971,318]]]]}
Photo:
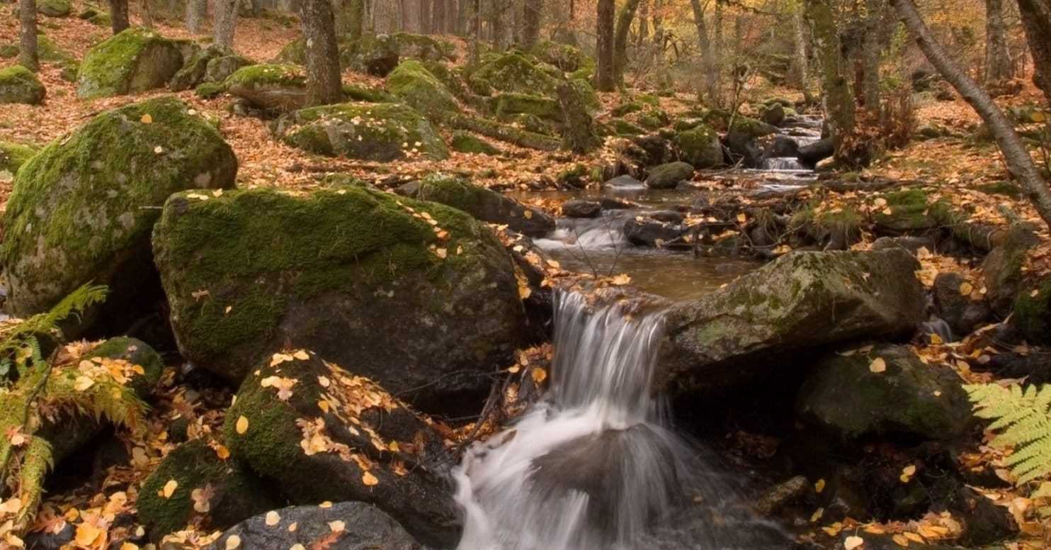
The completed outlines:
{"type": "Polygon", "coordinates": [[[549,394],[453,471],[459,550],[787,547],[668,428],[650,393],[663,313],[644,309],[557,294],[549,394]]]}

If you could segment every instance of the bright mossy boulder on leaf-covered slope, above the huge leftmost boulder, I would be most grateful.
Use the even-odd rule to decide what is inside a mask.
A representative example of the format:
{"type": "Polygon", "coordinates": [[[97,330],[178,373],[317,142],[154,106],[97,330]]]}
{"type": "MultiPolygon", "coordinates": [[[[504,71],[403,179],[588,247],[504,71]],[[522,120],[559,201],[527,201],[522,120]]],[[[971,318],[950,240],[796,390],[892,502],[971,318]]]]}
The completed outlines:
{"type": "Polygon", "coordinates": [[[131,27],[92,47],[77,74],[77,97],[104,98],[167,85],[191,48],[156,30],[131,27]]]}

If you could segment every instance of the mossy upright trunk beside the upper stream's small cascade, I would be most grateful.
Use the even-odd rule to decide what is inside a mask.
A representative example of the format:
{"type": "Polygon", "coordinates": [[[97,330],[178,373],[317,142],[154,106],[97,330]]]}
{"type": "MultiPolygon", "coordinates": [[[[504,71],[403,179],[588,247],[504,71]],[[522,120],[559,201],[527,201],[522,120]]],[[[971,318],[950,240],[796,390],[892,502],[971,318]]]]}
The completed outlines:
{"type": "MultiPolygon", "coordinates": [[[[831,0],[806,0],[806,17],[813,24],[813,39],[817,58],[821,63],[821,87],[824,91],[826,121],[836,145],[837,159],[841,155],[844,139],[854,127],[853,98],[850,86],[843,76],[843,56],[840,48],[840,34],[832,16],[831,0]]],[[[849,163],[848,163],[849,164],[849,163]]]]}

